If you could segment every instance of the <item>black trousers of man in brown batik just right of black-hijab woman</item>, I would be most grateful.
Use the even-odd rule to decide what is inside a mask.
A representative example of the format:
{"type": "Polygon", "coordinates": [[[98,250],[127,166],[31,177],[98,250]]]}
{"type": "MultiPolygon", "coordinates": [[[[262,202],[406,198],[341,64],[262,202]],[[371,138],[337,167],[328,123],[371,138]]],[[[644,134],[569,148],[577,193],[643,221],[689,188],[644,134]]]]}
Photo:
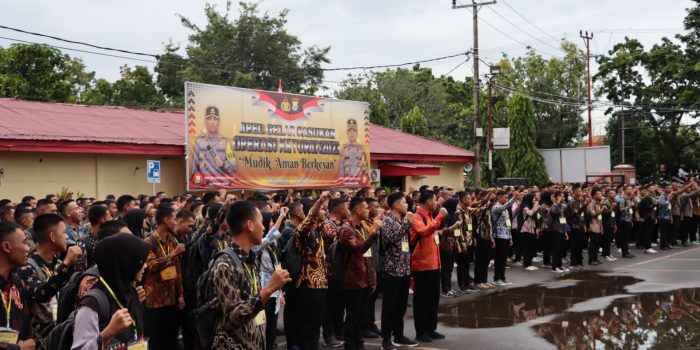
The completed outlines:
{"type": "Polygon", "coordinates": [[[143,333],[149,350],[177,349],[180,310],[177,306],[146,308],[143,333]]]}

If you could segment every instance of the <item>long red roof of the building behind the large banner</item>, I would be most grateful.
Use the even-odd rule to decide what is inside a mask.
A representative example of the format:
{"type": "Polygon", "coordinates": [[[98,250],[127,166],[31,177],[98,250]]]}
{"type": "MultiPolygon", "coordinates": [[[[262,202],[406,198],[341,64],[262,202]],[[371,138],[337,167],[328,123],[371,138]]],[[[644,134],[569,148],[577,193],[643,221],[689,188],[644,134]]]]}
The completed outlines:
{"type": "MultiPolygon", "coordinates": [[[[178,152],[173,146],[185,144],[184,122],[183,112],[0,98],[0,140],[18,140],[12,144],[4,141],[0,149],[90,152],[91,147],[97,147],[100,150],[94,153],[154,154],[162,149],[167,150],[164,154],[175,154],[178,152]],[[37,140],[44,142],[32,144],[37,140]],[[71,147],[66,147],[71,142],[71,147]],[[100,144],[144,146],[110,152],[111,145],[100,144]]],[[[374,124],[370,126],[370,152],[373,160],[474,161],[470,151],[374,124]]]]}

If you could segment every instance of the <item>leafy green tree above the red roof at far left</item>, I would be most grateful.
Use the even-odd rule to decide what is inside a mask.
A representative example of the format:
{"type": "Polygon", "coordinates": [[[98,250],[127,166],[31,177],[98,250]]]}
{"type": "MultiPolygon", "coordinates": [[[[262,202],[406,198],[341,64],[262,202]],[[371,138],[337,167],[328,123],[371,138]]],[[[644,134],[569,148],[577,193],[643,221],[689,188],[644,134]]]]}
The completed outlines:
{"type": "MultiPolygon", "coordinates": [[[[58,49],[39,44],[0,48],[0,96],[66,102],[75,95],[77,62],[58,49]]],[[[83,66],[84,67],[84,66],[83,66]]]]}

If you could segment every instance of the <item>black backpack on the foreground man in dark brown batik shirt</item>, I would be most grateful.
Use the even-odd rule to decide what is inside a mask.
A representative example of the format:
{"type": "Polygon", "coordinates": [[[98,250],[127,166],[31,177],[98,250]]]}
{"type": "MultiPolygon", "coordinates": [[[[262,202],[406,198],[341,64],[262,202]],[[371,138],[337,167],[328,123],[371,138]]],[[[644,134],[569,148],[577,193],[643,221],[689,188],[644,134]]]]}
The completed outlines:
{"type": "Polygon", "coordinates": [[[241,266],[242,262],[238,255],[231,248],[226,248],[214,256],[209,263],[209,267],[197,280],[197,307],[192,310],[191,317],[195,325],[197,334],[196,342],[198,349],[210,349],[214,340],[216,323],[221,315],[219,302],[214,296],[214,285],[212,270],[216,261],[223,255],[228,256],[233,261],[234,266],[241,266]]]}

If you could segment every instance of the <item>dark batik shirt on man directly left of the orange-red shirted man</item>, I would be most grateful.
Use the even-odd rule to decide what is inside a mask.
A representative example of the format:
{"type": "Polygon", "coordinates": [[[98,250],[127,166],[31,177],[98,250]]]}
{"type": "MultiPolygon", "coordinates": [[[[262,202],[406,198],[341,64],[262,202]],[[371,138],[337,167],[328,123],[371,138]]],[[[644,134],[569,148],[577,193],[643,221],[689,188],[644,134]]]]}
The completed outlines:
{"type": "Polygon", "coordinates": [[[394,215],[384,217],[379,237],[382,240],[384,272],[394,277],[411,274],[411,252],[408,248],[408,231],[411,222],[399,220],[394,215]]]}

